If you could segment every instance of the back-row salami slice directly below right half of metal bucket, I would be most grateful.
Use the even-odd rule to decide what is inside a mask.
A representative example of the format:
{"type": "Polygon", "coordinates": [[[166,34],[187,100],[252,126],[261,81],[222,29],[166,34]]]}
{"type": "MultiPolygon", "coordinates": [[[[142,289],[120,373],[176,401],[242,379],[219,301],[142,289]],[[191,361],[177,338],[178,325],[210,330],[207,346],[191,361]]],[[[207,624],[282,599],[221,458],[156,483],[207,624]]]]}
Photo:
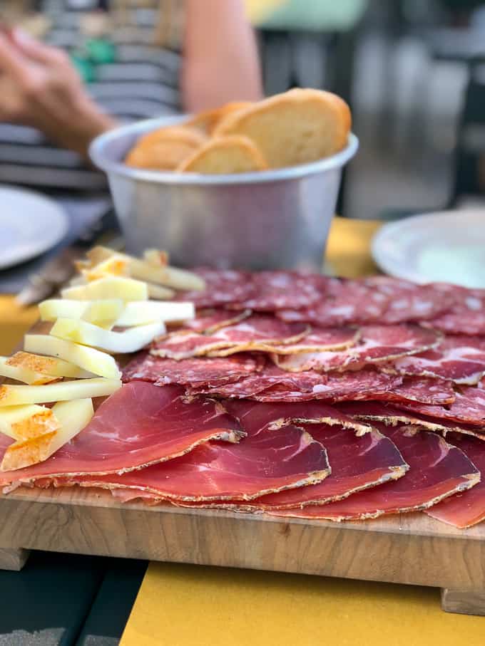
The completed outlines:
{"type": "Polygon", "coordinates": [[[240,308],[275,311],[303,309],[322,300],[330,278],[302,271],[260,271],[252,276],[254,293],[238,303],[240,308]]]}

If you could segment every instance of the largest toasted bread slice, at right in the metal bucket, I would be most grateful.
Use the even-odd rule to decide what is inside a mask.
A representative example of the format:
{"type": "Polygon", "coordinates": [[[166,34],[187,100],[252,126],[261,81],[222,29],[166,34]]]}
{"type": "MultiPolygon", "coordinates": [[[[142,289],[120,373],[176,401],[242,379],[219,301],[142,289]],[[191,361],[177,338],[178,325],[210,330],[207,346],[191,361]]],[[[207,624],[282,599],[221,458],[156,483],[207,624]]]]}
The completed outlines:
{"type": "Polygon", "coordinates": [[[339,152],[350,125],[349,106],[337,95],[295,89],[225,116],[214,135],[249,137],[270,168],[282,168],[339,152]]]}

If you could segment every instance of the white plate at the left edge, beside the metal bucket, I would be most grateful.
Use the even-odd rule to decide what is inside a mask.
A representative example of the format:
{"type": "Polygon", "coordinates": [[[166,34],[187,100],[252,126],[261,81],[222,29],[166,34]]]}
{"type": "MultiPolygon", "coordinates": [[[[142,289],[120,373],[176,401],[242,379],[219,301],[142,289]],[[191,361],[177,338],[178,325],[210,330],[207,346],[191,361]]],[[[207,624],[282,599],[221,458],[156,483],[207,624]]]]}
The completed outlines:
{"type": "Polygon", "coordinates": [[[0,269],[30,260],[66,235],[68,219],[39,193],[0,186],[0,269]]]}

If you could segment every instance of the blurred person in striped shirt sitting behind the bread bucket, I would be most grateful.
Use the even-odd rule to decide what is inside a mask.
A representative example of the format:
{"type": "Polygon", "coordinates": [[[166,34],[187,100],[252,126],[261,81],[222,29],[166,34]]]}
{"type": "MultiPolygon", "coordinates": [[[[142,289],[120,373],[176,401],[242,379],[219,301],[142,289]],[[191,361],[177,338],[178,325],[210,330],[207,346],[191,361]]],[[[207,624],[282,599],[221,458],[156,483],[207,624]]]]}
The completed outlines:
{"type": "Polygon", "coordinates": [[[118,121],[260,98],[243,0],[1,0],[0,182],[101,188],[118,121]]]}

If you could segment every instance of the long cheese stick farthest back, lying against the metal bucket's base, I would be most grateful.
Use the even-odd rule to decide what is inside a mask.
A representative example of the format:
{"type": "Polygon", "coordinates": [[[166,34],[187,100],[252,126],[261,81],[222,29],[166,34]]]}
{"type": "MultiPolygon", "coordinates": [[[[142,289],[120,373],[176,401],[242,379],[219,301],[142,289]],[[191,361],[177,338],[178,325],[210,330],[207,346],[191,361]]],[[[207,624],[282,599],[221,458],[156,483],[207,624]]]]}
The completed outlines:
{"type": "MultiPolygon", "coordinates": [[[[102,261],[116,257],[116,259],[125,260],[128,262],[128,271],[130,276],[138,278],[141,281],[148,283],[158,283],[174,289],[185,290],[203,290],[205,289],[205,281],[192,271],[185,271],[185,269],[176,269],[163,264],[155,264],[153,261],[140,260],[121,254],[119,251],[113,251],[104,246],[96,246],[91,251],[88,251],[88,258],[100,264],[102,261]]],[[[153,250],[151,256],[153,257],[153,250]]]]}

